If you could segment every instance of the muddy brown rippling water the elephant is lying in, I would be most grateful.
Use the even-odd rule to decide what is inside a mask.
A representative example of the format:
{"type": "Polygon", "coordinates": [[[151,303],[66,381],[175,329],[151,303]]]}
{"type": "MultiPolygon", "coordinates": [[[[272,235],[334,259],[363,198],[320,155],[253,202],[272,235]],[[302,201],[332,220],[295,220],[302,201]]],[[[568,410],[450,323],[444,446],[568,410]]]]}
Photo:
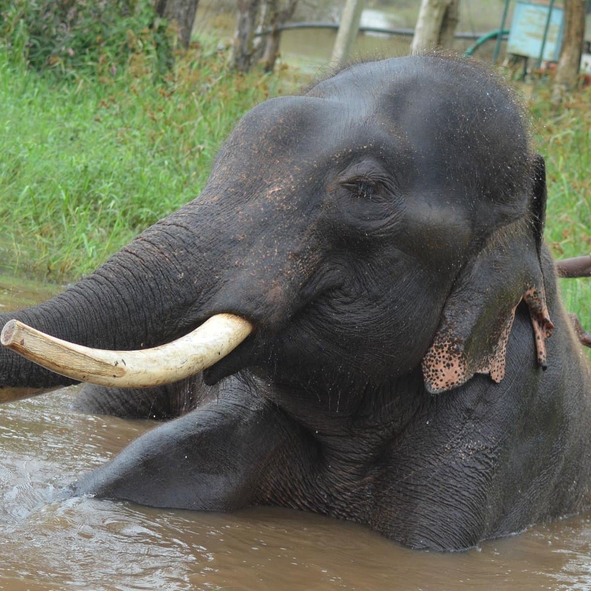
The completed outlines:
{"type": "MultiPolygon", "coordinates": [[[[0,310],[52,291],[0,278],[0,310]]],[[[441,554],[298,511],[219,514],[64,496],[155,425],[76,413],[74,395],[66,388],[0,406],[0,589],[591,589],[590,516],[441,554]]]]}

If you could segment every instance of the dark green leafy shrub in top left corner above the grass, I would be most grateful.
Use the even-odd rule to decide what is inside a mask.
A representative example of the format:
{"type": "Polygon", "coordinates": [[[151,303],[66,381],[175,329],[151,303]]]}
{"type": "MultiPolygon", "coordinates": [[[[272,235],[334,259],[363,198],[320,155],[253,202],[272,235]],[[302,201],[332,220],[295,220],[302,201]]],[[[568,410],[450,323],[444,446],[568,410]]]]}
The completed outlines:
{"type": "Polygon", "coordinates": [[[58,77],[116,76],[138,55],[162,74],[167,23],[147,0],[0,0],[0,43],[12,59],[58,77]]]}

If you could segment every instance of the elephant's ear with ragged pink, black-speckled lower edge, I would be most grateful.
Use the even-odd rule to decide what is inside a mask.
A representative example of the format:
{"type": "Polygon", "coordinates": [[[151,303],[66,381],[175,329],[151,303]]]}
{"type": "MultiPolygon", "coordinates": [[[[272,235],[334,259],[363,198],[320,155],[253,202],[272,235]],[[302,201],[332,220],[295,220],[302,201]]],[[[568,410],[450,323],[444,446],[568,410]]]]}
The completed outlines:
{"type": "Polygon", "coordinates": [[[428,391],[444,392],[472,376],[505,375],[506,348],[521,301],[530,310],[537,361],[546,368],[545,339],[553,324],[545,302],[540,250],[545,218],[544,160],[534,161],[532,190],[524,219],[496,230],[460,271],[423,358],[428,391]]]}

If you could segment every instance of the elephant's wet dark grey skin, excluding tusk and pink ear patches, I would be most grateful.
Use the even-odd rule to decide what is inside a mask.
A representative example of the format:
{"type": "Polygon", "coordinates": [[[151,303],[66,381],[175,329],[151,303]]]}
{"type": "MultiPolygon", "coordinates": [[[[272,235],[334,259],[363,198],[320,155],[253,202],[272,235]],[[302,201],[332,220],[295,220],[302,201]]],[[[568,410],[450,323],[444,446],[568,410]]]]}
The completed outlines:
{"type": "MultiPolygon", "coordinates": [[[[414,548],[467,548],[589,506],[591,379],[541,245],[544,210],[543,160],[489,73],[440,57],[356,64],[252,109],[196,200],[0,326],[14,316],[137,349],[219,312],[254,323],[182,384],[85,387],[78,408],[178,418],[77,493],[281,505],[414,548]],[[473,368],[526,276],[554,323],[547,370],[521,303],[497,384],[473,368]],[[421,359],[444,325],[473,367],[431,394],[421,359]]],[[[0,384],[69,383],[0,352],[0,384]]]]}

